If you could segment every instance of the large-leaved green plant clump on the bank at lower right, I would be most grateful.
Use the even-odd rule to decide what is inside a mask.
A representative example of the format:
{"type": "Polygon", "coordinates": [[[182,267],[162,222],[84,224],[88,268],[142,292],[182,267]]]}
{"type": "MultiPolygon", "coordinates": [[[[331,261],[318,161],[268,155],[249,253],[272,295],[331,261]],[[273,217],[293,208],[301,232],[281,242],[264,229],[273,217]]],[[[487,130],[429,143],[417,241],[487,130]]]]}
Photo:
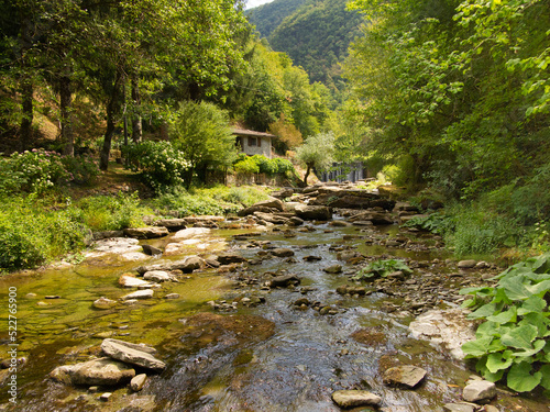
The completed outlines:
{"type": "Polygon", "coordinates": [[[476,369],[487,380],[506,376],[518,392],[541,386],[550,390],[550,253],[514,265],[496,277],[492,287],[468,288],[473,296],[464,305],[469,318],[483,320],[475,339],[462,346],[466,358],[477,358],[476,369]]]}

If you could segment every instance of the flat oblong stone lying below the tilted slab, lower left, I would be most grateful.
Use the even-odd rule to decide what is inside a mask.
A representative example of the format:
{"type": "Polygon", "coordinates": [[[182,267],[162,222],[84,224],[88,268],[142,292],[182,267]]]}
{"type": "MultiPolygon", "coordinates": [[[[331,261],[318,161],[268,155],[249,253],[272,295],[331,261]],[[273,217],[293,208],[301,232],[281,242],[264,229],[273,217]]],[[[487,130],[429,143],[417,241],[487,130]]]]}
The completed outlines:
{"type": "Polygon", "coordinates": [[[58,382],[87,386],[114,386],[128,382],[134,376],[135,370],[131,366],[108,357],[59,366],[50,374],[58,382]]]}

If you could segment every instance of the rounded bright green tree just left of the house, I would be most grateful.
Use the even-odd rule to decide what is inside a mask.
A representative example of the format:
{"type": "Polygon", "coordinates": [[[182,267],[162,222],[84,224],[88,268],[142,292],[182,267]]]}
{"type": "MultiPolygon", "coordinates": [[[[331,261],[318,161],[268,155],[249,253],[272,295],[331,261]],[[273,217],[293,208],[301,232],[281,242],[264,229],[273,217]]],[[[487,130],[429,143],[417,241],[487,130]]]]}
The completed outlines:
{"type": "Polygon", "coordinates": [[[184,178],[186,188],[190,187],[194,174],[199,174],[199,179],[205,181],[209,167],[228,167],[237,158],[229,118],[213,103],[183,102],[174,118],[170,140],[189,163],[184,178]]]}

